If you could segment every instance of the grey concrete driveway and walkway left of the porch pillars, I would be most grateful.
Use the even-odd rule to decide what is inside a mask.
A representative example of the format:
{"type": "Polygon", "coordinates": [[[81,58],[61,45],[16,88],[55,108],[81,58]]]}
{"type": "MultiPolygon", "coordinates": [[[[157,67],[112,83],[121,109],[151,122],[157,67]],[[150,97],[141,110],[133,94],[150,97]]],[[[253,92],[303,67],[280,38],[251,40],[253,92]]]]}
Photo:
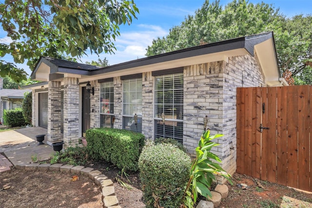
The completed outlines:
{"type": "Polygon", "coordinates": [[[55,151],[53,147],[46,144],[47,130],[41,127],[30,127],[6,132],[0,132],[0,172],[7,171],[8,165],[15,166],[20,163],[32,162],[32,156],[37,160],[47,160],[51,158],[55,151]],[[38,145],[36,135],[46,134],[44,145],[38,145]],[[6,161],[6,160],[9,161],[6,161]],[[9,162],[9,164],[8,164],[9,162]],[[10,165],[11,164],[11,165],[10,165]]]}

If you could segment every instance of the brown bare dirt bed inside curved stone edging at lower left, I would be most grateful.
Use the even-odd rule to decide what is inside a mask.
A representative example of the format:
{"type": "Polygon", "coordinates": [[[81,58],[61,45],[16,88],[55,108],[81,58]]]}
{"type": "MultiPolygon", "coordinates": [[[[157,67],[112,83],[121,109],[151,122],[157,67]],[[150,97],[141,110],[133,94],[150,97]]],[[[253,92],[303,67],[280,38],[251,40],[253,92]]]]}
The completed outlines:
{"type": "Polygon", "coordinates": [[[86,176],[52,171],[16,170],[0,173],[2,208],[100,208],[99,187],[86,176]],[[10,186],[9,189],[3,188],[10,186]]]}

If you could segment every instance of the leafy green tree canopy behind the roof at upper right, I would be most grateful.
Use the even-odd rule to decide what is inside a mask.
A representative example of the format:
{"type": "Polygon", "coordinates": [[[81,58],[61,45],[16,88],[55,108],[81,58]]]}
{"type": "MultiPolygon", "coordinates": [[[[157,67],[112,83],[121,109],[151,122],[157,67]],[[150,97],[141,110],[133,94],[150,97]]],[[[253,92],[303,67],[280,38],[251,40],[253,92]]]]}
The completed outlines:
{"type": "MultiPolygon", "coordinates": [[[[312,16],[285,17],[272,4],[233,0],[221,6],[219,0],[206,0],[193,16],[170,29],[168,36],[156,38],[146,56],[153,56],[201,43],[273,31],[279,68],[292,76],[307,76],[307,60],[312,58],[312,16]]],[[[295,82],[299,83],[299,82],[295,82]]],[[[306,84],[312,84],[308,80],[306,84]]]]}

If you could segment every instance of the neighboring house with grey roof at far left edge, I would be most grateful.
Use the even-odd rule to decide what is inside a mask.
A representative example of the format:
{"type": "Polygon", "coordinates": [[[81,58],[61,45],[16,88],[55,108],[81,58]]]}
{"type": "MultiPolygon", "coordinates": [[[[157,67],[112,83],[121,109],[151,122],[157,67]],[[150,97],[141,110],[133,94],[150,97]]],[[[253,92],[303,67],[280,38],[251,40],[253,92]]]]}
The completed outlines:
{"type": "Polygon", "coordinates": [[[0,124],[3,124],[3,111],[21,108],[24,93],[31,90],[3,89],[3,78],[0,77],[0,124]]]}

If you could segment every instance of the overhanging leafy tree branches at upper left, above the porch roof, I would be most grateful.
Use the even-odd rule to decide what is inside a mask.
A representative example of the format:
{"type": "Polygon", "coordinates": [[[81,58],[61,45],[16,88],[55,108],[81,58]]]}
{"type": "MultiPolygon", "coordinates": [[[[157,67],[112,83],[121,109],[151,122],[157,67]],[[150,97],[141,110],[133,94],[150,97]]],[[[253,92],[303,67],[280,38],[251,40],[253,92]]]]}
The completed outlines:
{"type": "MultiPolygon", "coordinates": [[[[0,42],[0,57],[33,68],[40,56],[81,57],[86,50],[113,53],[120,24],[131,24],[138,9],[133,0],[5,0],[0,3],[0,23],[12,39],[0,42]]],[[[0,60],[0,76],[26,79],[23,69],[0,60]]]]}

